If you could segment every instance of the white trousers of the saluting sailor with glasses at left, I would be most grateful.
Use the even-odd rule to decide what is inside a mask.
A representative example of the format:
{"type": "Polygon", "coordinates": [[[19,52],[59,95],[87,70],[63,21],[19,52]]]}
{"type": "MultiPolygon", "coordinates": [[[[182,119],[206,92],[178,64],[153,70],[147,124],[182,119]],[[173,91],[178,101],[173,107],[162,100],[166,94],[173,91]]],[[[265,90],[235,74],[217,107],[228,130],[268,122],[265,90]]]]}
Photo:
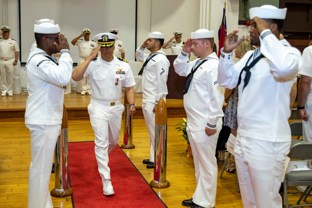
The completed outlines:
{"type": "Polygon", "coordinates": [[[53,208],[49,191],[53,154],[61,125],[26,124],[32,160],[28,180],[28,208],[53,208]]]}

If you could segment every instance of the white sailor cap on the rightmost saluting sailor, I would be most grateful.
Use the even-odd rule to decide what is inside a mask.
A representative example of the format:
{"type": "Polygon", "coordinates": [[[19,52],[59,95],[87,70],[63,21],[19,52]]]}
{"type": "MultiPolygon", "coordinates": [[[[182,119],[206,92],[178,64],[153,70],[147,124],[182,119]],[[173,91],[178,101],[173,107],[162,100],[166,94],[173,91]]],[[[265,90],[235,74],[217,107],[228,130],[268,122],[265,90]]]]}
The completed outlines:
{"type": "Polygon", "coordinates": [[[259,17],[261,19],[280,19],[284,20],[286,17],[287,8],[279,9],[272,5],[263,5],[261,7],[253,7],[249,9],[249,17],[259,17]]]}

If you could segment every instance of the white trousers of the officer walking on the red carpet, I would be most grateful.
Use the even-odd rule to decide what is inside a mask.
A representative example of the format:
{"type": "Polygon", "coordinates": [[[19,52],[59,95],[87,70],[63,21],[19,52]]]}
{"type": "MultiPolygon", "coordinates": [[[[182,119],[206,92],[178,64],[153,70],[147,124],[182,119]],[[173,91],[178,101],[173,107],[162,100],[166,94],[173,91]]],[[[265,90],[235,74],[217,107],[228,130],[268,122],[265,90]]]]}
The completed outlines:
{"type": "Polygon", "coordinates": [[[91,99],[88,112],[95,135],[95,157],[100,176],[102,181],[110,180],[108,154],[118,143],[124,106],[121,103],[107,105],[91,99]]]}

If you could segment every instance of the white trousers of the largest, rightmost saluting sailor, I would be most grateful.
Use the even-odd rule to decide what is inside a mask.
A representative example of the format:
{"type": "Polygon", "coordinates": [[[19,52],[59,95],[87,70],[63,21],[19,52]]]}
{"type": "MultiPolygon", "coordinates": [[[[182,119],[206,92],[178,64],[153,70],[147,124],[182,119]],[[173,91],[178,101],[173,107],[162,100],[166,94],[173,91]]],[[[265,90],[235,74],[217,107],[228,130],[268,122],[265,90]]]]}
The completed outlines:
{"type": "Polygon", "coordinates": [[[290,142],[241,137],[238,130],[234,156],[244,207],[282,207],[279,190],[289,148],[290,142]]]}

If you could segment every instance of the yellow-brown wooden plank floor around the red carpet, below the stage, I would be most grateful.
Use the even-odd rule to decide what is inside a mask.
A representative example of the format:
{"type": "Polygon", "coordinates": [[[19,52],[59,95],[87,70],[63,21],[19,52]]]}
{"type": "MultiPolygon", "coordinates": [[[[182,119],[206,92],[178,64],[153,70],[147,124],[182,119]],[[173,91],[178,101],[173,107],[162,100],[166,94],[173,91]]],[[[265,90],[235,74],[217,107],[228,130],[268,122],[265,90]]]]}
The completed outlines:
{"type": "MultiPolygon", "coordinates": [[[[196,188],[193,159],[185,157],[186,141],[179,137],[179,133],[175,130],[175,124],[182,122],[181,118],[168,119],[167,180],[171,186],[166,189],[154,189],[169,208],[183,207],[181,201],[191,198],[196,188]]],[[[68,126],[69,142],[94,140],[90,121],[69,121],[68,126]]],[[[0,208],[27,207],[28,169],[31,159],[30,134],[23,122],[2,122],[0,129],[0,208]]],[[[123,143],[122,135],[123,132],[119,145],[123,143]]],[[[143,119],[136,119],[133,122],[133,143],[136,148],[124,152],[149,182],[153,179],[153,169],[146,169],[146,165],[142,164],[142,160],[149,157],[149,136],[143,119]]],[[[218,160],[218,174],[223,164],[224,162],[218,160]]],[[[50,190],[53,187],[54,174],[51,174],[50,190]]],[[[289,190],[295,190],[295,187],[290,187],[289,190]]],[[[299,194],[289,195],[289,198],[290,204],[294,205],[299,194]]],[[[72,207],[71,197],[53,198],[52,201],[54,207],[72,207]]],[[[307,202],[312,203],[311,196],[307,202]]],[[[103,203],[105,203],[104,195],[103,203]]],[[[221,179],[218,177],[217,207],[243,207],[240,193],[236,188],[235,174],[224,172],[221,179]]]]}

